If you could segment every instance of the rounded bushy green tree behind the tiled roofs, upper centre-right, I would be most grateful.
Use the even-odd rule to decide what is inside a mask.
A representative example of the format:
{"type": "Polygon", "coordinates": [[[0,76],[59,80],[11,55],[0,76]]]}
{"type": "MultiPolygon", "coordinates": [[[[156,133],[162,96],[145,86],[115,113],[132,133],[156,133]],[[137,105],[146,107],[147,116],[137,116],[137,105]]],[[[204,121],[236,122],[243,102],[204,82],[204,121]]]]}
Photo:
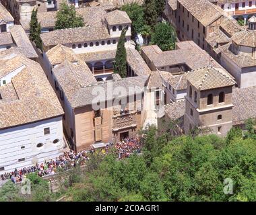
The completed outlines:
{"type": "Polygon", "coordinates": [[[151,44],[158,45],[163,51],[173,50],[176,40],[176,32],[172,26],[166,23],[156,24],[151,37],[151,44]]]}

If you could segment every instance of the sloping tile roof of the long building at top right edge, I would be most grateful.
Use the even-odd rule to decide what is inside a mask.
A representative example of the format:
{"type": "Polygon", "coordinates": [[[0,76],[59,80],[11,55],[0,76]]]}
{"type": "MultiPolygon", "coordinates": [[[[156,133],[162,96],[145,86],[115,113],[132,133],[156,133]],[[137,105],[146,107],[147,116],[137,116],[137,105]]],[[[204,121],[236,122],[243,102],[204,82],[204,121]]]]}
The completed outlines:
{"type": "Polygon", "coordinates": [[[178,0],[203,26],[207,27],[222,16],[222,9],[207,0],[178,0]],[[203,13],[202,13],[203,11],[203,13]]]}

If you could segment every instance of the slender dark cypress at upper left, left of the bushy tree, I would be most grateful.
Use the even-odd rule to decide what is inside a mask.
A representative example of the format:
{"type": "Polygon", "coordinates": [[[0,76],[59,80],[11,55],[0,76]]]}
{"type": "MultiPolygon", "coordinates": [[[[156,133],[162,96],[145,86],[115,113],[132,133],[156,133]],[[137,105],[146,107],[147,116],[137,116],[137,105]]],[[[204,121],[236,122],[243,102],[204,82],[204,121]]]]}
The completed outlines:
{"type": "Polygon", "coordinates": [[[30,40],[36,44],[37,48],[42,50],[42,40],[40,38],[41,24],[38,23],[37,9],[33,9],[30,19],[30,40]]]}

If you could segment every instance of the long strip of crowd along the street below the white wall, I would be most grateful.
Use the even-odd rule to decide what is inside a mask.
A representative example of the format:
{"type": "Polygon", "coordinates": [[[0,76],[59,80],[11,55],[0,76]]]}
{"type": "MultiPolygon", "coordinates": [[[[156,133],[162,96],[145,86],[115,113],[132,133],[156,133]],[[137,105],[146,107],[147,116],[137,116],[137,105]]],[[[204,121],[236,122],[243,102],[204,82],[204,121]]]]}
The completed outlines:
{"type": "Polygon", "coordinates": [[[28,173],[37,172],[40,177],[54,174],[57,172],[57,169],[69,169],[70,167],[75,167],[77,164],[84,164],[84,161],[89,159],[88,153],[92,153],[92,150],[84,150],[77,153],[70,150],[57,159],[45,161],[44,163],[36,163],[34,166],[24,167],[20,170],[15,169],[11,173],[4,173],[1,175],[1,180],[11,179],[13,183],[16,183],[22,181],[28,173]]]}

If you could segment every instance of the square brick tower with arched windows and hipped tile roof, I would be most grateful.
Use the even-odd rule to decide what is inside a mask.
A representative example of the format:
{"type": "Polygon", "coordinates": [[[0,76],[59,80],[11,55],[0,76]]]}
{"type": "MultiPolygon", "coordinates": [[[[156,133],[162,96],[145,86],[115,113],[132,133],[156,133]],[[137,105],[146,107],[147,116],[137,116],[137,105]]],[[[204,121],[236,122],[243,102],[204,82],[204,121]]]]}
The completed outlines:
{"type": "Polygon", "coordinates": [[[234,84],[228,73],[214,67],[203,67],[187,75],[185,134],[197,126],[226,136],[232,127],[234,84]]]}

